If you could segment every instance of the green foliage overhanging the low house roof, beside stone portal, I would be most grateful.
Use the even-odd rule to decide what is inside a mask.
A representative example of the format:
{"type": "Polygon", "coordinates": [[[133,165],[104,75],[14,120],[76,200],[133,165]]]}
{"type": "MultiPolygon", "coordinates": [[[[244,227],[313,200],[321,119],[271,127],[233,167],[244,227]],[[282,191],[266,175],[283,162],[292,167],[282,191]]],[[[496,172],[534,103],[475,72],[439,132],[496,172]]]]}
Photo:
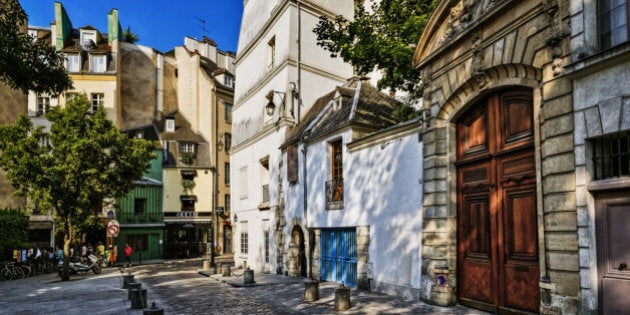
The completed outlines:
{"type": "Polygon", "coordinates": [[[366,75],[374,69],[383,77],[379,89],[408,92],[411,99],[422,95],[420,74],[412,67],[420,35],[438,0],[382,0],[368,12],[356,5],[354,20],[320,17],[313,29],[317,45],[340,56],[366,75]]]}

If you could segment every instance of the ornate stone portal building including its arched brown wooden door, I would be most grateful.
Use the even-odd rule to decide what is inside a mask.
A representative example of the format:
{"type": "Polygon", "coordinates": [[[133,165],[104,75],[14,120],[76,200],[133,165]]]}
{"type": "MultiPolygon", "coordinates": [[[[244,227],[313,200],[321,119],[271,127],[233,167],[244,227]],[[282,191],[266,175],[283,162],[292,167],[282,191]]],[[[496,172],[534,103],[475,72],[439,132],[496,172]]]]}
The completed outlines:
{"type": "Polygon", "coordinates": [[[423,299],[581,310],[578,227],[587,221],[576,201],[578,95],[563,74],[569,9],[556,0],[445,0],[431,16],[414,57],[426,120],[423,299]]]}

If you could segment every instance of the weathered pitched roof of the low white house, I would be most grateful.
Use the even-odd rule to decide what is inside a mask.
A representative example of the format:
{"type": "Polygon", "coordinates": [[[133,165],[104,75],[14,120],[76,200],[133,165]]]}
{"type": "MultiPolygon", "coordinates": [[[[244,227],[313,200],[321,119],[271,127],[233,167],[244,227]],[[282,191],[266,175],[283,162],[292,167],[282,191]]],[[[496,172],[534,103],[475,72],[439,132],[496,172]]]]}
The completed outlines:
{"type": "Polygon", "coordinates": [[[298,142],[305,132],[309,138],[322,137],[346,126],[360,126],[374,131],[398,123],[392,112],[399,104],[367,82],[352,79],[344,86],[315,101],[304,119],[288,131],[282,147],[298,142]]]}

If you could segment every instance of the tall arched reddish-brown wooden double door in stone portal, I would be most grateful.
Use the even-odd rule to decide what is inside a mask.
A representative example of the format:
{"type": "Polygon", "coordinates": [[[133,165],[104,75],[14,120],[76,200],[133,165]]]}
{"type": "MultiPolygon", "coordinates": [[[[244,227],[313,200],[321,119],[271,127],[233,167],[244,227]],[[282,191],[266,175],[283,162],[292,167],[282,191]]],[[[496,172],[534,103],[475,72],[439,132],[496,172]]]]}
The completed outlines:
{"type": "Polygon", "coordinates": [[[532,91],[510,89],[457,123],[458,298],[538,312],[538,224],[532,91]]]}

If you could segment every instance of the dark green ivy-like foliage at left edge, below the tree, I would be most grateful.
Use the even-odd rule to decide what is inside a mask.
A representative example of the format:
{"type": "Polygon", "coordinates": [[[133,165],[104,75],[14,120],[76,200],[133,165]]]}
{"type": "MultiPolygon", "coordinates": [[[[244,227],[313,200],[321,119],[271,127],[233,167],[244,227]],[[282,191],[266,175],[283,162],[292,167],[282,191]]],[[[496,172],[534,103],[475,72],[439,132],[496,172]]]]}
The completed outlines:
{"type": "Polygon", "coordinates": [[[0,209],[0,259],[8,260],[14,249],[28,241],[28,215],[19,209],[0,209]]]}

